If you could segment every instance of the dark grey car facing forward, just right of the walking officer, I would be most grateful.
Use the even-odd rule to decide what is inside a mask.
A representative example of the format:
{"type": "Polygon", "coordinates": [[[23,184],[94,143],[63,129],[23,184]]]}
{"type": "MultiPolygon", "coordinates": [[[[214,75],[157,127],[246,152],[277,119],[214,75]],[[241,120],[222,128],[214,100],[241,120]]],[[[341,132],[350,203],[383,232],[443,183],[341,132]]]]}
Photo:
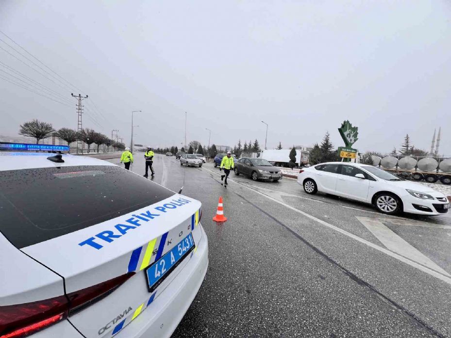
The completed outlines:
{"type": "Polygon", "coordinates": [[[282,178],[280,169],[264,159],[241,158],[235,162],[234,173],[236,176],[243,174],[250,176],[254,181],[258,179],[272,179],[277,182],[282,178]]]}

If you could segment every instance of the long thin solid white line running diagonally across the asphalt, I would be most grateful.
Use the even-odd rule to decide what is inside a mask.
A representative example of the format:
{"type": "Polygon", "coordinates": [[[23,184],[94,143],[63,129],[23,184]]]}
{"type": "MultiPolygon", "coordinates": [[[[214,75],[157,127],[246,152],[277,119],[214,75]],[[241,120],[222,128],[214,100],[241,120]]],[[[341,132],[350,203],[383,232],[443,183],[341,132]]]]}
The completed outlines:
{"type": "MultiPolygon", "coordinates": [[[[203,169],[204,170],[208,170],[208,171],[212,172],[213,174],[217,174],[213,170],[210,170],[210,169],[207,169],[207,168],[203,168],[203,169]]],[[[219,176],[219,174],[217,174],[217,175],[219,176]]],[[[367,246],[369,246],[369,247],[371,247],[373,249],[376,249],[376,250],[386,254],[387,256],[390,256],[392,258],[396,258],[396,259],[400,260],[401,262],[403,262],[405,264],[408,264],[408,265],[410,265],[410,266],[412,266],[412,267],[414,267],[414,268],[416,268],[416,269],[418,269],[418,270],[420,270],[422,272],[425,272],[426,274],[430,274],[431,276],[434,276],[434,277],[444,281],[445,283],[448,283],[448,284],[451,285],[451,278],[448,277],[447,275],[441,274],[441,273],[439,273],[439,272],[437,272],[437,271],[435,271],[433,269],[430,269],[430,268],[428,268],[426,266],[418,264],[416,261],[413,261],[413,260],[410,260],[408,258],[402,257],[401,255],[399,255],[399,254],[397,254],[395,252],[392,252],[392,251],[390,251],[388,249],[385,249],[382,246],[379,246],[377,244],[371,243],[370,241],[364,240],[363,238],[360,238],[360,237],[358,237],[358,236],[356,236],[354,234],[351,234],[350,232],[348,232],[346,230],[343,230],[343,229],[341,229],[339,227],[336,227],[336,226],[334,226],[332,224],[324,222],[323,220],[320,220],[319,218],[317,218],[317,217],[315,217],[315,216],[313,216],[313,215],[311,215],[311,214],[309,214],[307,212],[304,212],[304,211],[301,211],[299,209],[296,209],[296,208],[294,208],[294,207],[292,207],[292,206],[290,206],[290,205],[288,205],[288,204],[286,204],[286,203],[284,203],[284,202],[282,202],[282,201],[280,201],[280,200],[278,200],[276,198],[268,196],[265,193],[259,192],[257,190],[252,189],[252,188],[249,188],[245,184],[236,182],[232,178],[230,178],[229,180],[231,182],[234,182],[234,183],[236,183],[238,185],[241,185],[241,186],[245,187],[246,189],[249,189],[249,190],[253,191],[254,193],[258,193],[259,195],[265,196],[266,198],[270,199],[271,201],[279,203],[280,205],[283,205],[284,207],[286,207],[286,208],[288,208],[290,210],[293,210],[293,211],[295,211],[297,213],[300,213],[301,215],[304,215],[305,217],[310,218],[310,219],[316,221],[317,223],[319,223],[321,225],[327,226],[327,227],[329,227],[329,228],[331,228],[331,229],[333,229],[333,230],[335,230],[335,231],[337,231],[337,232],[339,232],[339,233],[341,233],[341,234],[343,234],[345,236],[348,236],[348,237],[352,238],[355,241],[359,241],[359,242],[361,242],[363,244],[366,244],[367,246]]]]}

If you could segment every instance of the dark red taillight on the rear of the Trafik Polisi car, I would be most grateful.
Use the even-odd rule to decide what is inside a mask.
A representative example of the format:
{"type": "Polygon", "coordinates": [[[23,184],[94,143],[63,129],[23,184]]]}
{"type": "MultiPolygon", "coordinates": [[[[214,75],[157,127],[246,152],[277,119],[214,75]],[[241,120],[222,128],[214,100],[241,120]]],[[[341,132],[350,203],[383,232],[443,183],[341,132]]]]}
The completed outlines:
{"type": "Polygon", "coordinates": [[[31,335],[74,315],[116,290],[135,273],[128,273],[92,287],[43,301],[0,306],[0,338],[31,335]]]}

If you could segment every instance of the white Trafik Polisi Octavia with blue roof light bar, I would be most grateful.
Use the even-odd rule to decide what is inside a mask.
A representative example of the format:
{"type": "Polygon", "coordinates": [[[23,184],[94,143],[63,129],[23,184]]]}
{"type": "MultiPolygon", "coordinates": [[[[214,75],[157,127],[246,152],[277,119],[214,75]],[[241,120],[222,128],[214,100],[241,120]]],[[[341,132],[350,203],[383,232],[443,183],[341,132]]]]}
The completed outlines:
{"type": "Polygon", "coordinates": [[[0,151],[0,337],[169,337],[207,271],[200,216],[106,161],[0,151]]]}

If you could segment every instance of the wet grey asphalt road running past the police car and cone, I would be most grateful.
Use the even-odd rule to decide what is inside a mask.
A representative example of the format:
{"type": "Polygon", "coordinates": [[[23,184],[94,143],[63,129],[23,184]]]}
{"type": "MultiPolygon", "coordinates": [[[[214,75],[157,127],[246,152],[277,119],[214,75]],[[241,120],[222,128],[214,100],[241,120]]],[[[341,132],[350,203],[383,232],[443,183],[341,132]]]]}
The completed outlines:
{"type": "MultiPolygon", "coordinates": [[[[288,178],[231,174],[225,189],[211,163],[157,155],[154,168],[155,182],[202,202],[209,240],[204,283],[173,337],[451,337],[449,216],[388,217],[288,178]],[[221,195],[228,221],[217,225],[221,195]]],[[[132,170],[144,174],[142,153],[132,170]]]]}

